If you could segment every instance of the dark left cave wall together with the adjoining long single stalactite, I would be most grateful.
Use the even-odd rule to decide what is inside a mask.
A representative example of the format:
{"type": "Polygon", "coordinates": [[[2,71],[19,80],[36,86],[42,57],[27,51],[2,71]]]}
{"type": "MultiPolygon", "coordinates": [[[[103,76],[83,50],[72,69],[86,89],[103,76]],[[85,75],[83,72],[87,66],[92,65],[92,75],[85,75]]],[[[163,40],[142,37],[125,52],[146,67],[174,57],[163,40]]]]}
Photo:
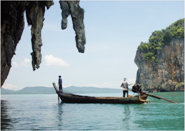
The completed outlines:
{"type": "Polygon", "coordinates": [[[41,63],[41,29],[44,21],[45,7],[53,4],[52,1],[45,2],[6,2],[2,1],[1,21],[1,86],[11,68],[11,59],[15,54],[16,46],[24,29],[24,12],[28,25],[31,25],[32,35],[32,66],[33,70],[39,68],[41,63]]]}

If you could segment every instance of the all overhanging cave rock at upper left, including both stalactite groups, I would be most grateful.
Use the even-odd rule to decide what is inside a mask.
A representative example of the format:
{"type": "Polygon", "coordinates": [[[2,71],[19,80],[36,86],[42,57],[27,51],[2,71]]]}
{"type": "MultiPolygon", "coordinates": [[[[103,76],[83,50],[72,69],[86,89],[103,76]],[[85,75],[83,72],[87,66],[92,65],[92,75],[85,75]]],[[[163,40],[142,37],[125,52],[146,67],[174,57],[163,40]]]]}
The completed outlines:
{"type": "MultiPolygon", "coordinates": [[[[11,59],[24,29],[24,12],[28,25],[31,25],[32,67],[38,69],[41,63],[41,30],[44,25],[45,8],[49,9],[53,1],[2,1],[1,2],[1,86],[7,78],[11,59]]],[[[84,52],[85,31],[84,11],[79,1],[60,1],[62,9],[62,29],[67,27],[67,16],[71,14],[76,32],[76,44],[79,52],[84,52]]]]}

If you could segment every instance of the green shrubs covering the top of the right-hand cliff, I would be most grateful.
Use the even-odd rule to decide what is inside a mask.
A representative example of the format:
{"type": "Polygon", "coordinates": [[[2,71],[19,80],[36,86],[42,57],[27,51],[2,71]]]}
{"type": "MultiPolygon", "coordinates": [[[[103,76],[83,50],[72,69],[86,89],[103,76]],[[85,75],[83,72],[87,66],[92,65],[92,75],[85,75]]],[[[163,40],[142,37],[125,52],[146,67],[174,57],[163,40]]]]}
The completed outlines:
{"type": "Polygon", "coordinates": [[[166,29],[153,32],[149,42],[141,42],[138,49],[143,52],[146,61],[151,60],[155,65],[158,62],[157,52],[174,38],[184,38],[184,19],[172,23],[166,29]]]}

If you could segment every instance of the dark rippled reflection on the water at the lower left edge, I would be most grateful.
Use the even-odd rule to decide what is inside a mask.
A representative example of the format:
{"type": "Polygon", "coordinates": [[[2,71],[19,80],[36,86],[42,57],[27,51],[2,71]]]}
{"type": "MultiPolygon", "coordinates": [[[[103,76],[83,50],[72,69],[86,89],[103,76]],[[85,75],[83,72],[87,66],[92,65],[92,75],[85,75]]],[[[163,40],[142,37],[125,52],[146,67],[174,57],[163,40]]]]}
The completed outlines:
{"type": "Polygon", "coordinates": [[[11,117],[8,115],[8,101],[1,100],[1,130],[13,127],[11,117]]]}

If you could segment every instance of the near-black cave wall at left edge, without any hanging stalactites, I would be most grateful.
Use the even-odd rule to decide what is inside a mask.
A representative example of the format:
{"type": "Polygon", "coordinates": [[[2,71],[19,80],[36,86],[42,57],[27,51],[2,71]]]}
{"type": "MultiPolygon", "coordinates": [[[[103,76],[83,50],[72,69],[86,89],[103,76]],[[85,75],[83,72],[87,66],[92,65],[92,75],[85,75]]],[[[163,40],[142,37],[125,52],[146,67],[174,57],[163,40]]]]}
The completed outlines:
{"type": "Polygon", "coordinates": [[[27,2],[1,2],[1,86],[7,78],[11,59],[24,29],[27,2]]]}

